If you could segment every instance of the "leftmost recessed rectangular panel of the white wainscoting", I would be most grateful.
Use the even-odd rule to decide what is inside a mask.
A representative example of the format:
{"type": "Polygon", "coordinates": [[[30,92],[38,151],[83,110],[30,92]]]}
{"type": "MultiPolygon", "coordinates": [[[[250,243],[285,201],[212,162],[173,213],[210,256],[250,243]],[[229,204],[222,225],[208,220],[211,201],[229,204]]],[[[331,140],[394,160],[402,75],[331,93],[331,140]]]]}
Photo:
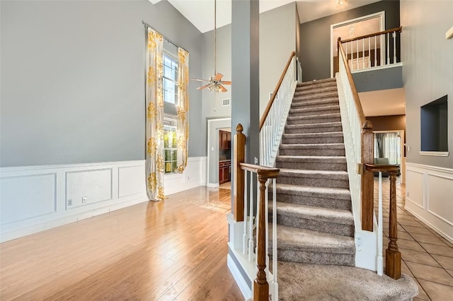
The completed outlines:
{"type": "Polygon", "coordinates": [[[1,225],[57,211],[57,175],[1,177],[1,225]]]}

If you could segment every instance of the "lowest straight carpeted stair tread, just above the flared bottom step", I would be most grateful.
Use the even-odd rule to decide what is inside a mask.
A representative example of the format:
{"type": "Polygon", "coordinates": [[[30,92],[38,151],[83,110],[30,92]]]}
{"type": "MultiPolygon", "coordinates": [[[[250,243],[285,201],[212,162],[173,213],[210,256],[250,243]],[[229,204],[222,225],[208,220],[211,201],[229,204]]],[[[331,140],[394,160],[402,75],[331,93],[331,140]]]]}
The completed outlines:
{"type": "MultiPolygon", "coordinates": [[[[272,223],[269,223],[272,229],[272,223]]],[[[270,244],[272,235],[269,235],[270,244]]],[[[277,248],[335,254],[355,254],[354,237],[277,225],[277,248]]]]}

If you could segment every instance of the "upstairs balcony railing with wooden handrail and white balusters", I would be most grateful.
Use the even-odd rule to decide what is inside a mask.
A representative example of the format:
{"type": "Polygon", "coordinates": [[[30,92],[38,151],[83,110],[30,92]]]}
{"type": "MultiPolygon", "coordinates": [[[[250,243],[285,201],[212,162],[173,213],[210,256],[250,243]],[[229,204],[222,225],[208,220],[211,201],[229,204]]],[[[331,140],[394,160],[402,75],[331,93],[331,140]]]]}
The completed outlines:
{"type": "Polygon", "coordinates": [[[341,41],[350,70],[389,66],[401,61],[396,55],[400,33],[401,27],[398,27],[341,41]]]}

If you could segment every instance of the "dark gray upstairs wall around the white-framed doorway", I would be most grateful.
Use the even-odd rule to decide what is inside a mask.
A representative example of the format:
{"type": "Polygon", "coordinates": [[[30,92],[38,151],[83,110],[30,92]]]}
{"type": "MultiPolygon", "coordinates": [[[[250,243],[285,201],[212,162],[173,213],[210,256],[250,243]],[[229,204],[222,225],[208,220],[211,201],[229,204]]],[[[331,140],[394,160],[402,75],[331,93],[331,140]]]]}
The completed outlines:
{"type": "MultiPolygon", "coordinates": [[[[385,11],[385,28],[397,28],[399,1],[379,1],[300,25],[303,81],[331,77],[331,25],[385,11]]],[[[404,31],[404,28],[403,28],[404,31]]],[[[398,46],[398,45],[397,45],[398,46]]]]}

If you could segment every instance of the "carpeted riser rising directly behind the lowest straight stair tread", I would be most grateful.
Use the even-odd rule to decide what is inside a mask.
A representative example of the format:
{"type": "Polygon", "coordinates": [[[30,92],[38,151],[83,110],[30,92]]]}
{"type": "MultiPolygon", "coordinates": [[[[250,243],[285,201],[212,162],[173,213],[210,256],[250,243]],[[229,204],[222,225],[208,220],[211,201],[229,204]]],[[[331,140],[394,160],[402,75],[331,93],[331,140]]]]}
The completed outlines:
{"type": "MultiPolygon", "coordinates": [[[[272,220],[272,212],[269,213],[269,220],[272,220]]],[[[314,230],[335,235],[354,236],[354,225],[343,225],[339,223],[329,223],[326,220],[311,220],[309,218],[286,216],[279,214],[278,211],[277,221],[279,225],[287,225],[289,227],[314,230]]]]}

